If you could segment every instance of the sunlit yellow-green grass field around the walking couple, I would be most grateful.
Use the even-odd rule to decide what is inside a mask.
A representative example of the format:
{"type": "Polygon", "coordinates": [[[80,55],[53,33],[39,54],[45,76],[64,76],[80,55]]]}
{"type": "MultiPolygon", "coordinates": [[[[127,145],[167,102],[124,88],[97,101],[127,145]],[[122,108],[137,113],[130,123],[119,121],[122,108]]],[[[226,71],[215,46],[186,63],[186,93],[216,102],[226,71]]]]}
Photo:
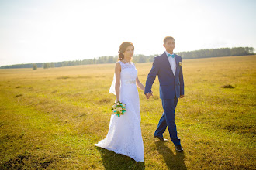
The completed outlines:
{"type": "MultiPolygon", "coordinates": [[[[136,64],[142,83],[151,64],[136,64]]],[[[256,56],[182,66],[184,153],[153,138],[162,114],[156,80],[150,100],[139,90],[144,163],[94,146],[109,128],[114,64],[0,70],[0,169],[256,169],[256,56]]]]}

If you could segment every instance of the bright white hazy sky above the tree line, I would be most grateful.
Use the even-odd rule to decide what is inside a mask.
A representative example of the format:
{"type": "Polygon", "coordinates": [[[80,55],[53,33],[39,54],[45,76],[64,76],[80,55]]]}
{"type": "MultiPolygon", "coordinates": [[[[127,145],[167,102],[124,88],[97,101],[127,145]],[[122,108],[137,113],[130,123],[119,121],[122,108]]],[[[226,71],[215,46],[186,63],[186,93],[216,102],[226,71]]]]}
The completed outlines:
{"type": "Polygon", "coordinates": [[[250,46],[254,0],[0,0],[0,66],[134,54],[250,46]]]}

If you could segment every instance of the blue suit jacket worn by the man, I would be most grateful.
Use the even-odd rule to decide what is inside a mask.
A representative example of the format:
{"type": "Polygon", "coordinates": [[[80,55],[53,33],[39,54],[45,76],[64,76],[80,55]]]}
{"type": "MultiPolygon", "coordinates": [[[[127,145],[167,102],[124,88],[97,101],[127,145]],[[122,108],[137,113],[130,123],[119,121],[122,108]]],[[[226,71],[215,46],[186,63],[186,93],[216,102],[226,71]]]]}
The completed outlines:
{"type": "Polygon", "coordinates": [[[161,99],[174,99],[184,95],[182,66],[179,65],[182,62],[182,57],[175,54],[175,61],[176,73],[174,75],[165,52],[160,56],[154,57],[153,66],[147,76],[145,94],[151,92],[154,80],[158,76],[161,99]]]}

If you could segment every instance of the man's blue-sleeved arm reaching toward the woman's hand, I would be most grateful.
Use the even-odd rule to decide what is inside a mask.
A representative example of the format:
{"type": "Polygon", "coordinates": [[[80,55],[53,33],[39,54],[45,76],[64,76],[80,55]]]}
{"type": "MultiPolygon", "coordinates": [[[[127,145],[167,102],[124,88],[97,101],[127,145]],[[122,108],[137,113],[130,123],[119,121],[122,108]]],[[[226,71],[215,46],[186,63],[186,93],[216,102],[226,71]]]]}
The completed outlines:
{"type": "Polygon", "coordinates": [[[146,87],[144,92],[145,94],[152,92],[151,88],[154,83],[154,80],[156,79],[158,70],[159,70],[159,64],[157,63],[157,59],[155,57],[150,73],[148,73],[148,76],[147,76],[146,87]]]}

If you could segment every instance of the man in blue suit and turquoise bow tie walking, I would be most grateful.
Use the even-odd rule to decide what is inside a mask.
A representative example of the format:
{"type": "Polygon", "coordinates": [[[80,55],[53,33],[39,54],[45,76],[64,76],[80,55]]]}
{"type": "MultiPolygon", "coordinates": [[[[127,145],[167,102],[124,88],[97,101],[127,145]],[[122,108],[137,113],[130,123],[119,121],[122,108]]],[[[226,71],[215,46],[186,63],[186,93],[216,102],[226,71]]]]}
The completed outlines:
{"type": "Polygon", "coordinates": [[[175,49],[175,39],[173,37],[166,36],[164,38],[164,48],[166,51],[162,55],[154,57],[153,66],[147,76],[145,95],[147,99],[153,96],[151,87],[158,75],[164,113],[159,120],[157,130],[154,132],[154,138],[158,138],[160,141],[168,141],[163,138],[163,133],[168,127],[176,151],[183,151],[175,124],[175,107],[178,98],[184,97],[182,57],[173,53],[173,49],[175,49]]]}

